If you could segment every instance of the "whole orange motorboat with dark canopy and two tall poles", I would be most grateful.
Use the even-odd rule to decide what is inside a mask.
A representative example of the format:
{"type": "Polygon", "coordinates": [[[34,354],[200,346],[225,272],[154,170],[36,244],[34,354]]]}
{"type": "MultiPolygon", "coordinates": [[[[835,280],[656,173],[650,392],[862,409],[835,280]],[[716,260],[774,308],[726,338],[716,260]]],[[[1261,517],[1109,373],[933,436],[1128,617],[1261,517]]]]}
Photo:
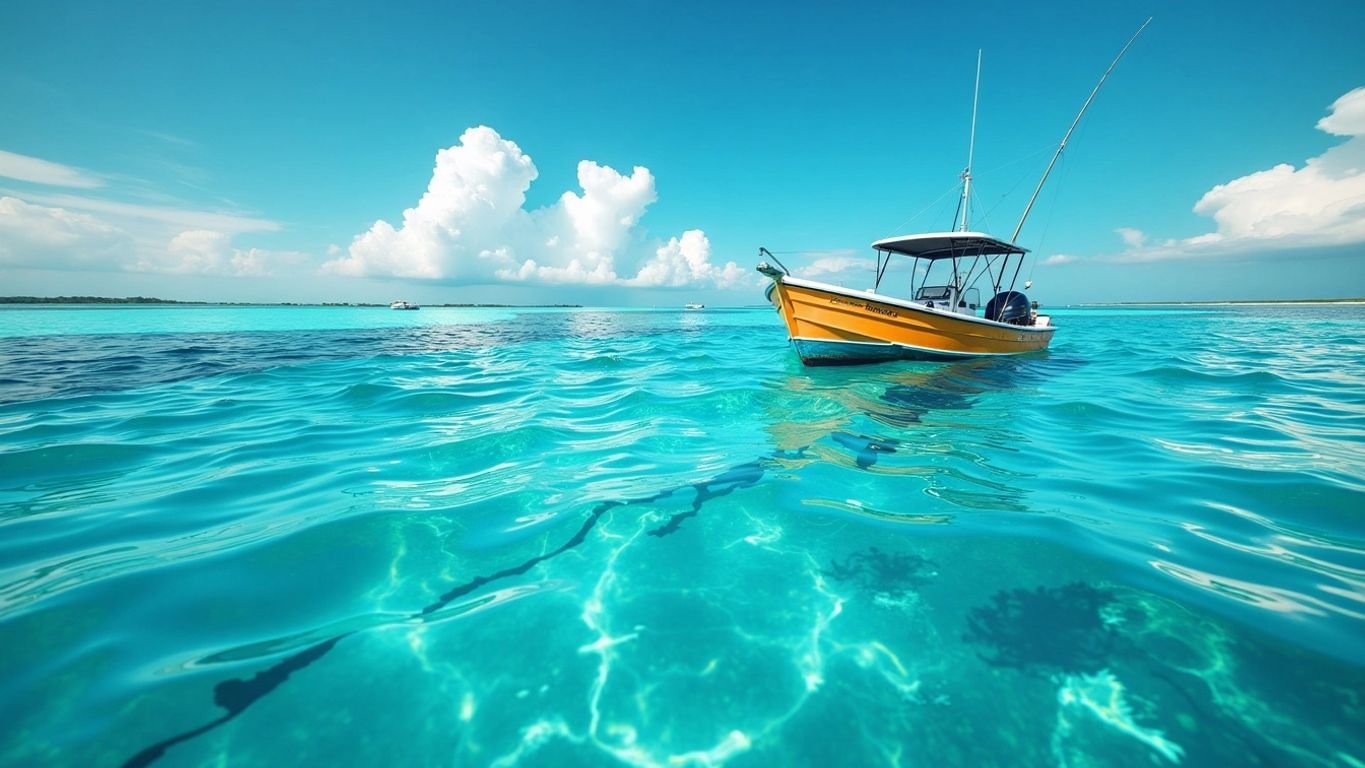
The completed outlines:
{"type": "MultiPolygon", "coordinates": [[[[766,261],[760,261],[756,269],[771,280],[764,297],[782,315],[788,340],[801,361],[807,366],[826,366],[883,360],[956,360],[1047,349],[1057,329],[1051,318],[1037,314],[1036,301],[1029,301],[1022,291],[1016,291],[1020,267],[1029,252],[1017,246],[1016,240],[1085,109],[1151,20],[1147,19],[1123,45],[1081,105],[1009,239],[968,228],[976,104],[981,83],[981,55],[977,52],[972,138],[958,209],[961,226],[954,221],[950,232],[901,235],[872,243],[876,269],[872,288],[867,291],[793,277],[771,251],[760,247],[759,256],[766,256],[766,261]],[[882,278],[893,256],[913,259],[908,297],[880,292],[882,278]],[[934,267],[938,265],[947,265],[947,269],[939,269],[935,276],[934,267]],[[921,276],[919,285],[916,276],[921,276]],[[977,284],[990,288],[991,299],[984,306],[977,284]]],[[[1025,280],[1024,288],[1032,288],[1032,281],[1025,280]]]]}

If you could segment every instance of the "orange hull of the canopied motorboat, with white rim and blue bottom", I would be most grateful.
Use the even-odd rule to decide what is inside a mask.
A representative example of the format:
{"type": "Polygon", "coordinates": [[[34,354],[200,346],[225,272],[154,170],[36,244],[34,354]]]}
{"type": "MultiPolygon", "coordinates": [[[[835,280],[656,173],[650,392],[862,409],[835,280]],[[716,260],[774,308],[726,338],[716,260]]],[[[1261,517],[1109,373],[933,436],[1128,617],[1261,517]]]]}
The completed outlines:
{"type": "Polygon", "coordinates": [[[807,366],[960,360],[1047,349],[1052,326],[1016,326],[790,277],[768,300],[807,366]]]}

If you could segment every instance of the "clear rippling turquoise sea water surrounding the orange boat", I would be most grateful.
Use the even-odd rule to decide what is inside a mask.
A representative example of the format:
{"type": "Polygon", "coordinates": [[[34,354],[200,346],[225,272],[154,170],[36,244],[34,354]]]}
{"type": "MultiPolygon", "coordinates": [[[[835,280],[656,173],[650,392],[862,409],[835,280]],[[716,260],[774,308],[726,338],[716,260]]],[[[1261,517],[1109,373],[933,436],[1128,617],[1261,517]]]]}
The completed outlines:
{"type": "Polygon", "coordinates": [[[0,764],[1362,764],[1365,310],[1055,316],[0,310],[0,764]]]}

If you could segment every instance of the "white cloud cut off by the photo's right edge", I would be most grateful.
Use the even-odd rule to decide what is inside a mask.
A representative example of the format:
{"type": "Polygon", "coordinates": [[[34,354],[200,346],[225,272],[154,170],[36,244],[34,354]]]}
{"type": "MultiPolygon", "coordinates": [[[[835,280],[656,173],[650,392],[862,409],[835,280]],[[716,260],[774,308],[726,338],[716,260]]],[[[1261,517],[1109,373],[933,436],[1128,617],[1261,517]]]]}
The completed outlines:
{"type": "Polygon", "coordinates": [[[1317,128],[1346,141],[1302,168],[1275,165],[1219,184],[1194,203],[1216,229],[1147,244],[1122,228],[1123,261],[1365,243],[1365,87],[1338,98],[1317,128]]]}

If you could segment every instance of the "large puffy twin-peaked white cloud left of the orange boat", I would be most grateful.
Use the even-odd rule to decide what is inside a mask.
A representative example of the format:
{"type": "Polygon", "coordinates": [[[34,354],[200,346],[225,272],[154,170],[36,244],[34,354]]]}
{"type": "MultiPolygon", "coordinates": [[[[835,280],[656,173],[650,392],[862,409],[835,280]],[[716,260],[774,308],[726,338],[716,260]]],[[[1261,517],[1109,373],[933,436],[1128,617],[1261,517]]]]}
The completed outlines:
{"type": "Polygon", "coordinates": [[[467,284],[728,286],[743,270],[711,263],[700,231],[648,246],[640,217],[657,199],[654,176],[579,162],[580,192],[526,209],[538,171],[515,142],[486,125],[442,149],[426,194],[397,226],[377,221],[324,271],[354,277],[408,277],[467,284]]]}

